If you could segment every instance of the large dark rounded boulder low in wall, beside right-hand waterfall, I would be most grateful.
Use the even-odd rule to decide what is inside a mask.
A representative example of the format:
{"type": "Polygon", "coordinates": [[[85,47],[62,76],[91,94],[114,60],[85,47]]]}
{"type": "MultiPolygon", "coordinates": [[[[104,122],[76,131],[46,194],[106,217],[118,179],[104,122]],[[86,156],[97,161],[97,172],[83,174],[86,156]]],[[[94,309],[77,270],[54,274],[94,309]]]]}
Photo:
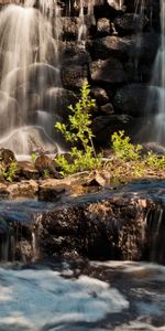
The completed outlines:
{"type": "MultiPolygon", "coordinates": [[[[153,113],[156,110],[157,106],[157,93],[154,92],[155,98],[152,105],[153,113]]],[[[113,99],[113,106],[124,113],[132,115],[134,117],[145,116],[146,111],[146,100],[148,96],[148,87],[144,84],[130,84],[123,86],[117,90],[113,99]]]]}

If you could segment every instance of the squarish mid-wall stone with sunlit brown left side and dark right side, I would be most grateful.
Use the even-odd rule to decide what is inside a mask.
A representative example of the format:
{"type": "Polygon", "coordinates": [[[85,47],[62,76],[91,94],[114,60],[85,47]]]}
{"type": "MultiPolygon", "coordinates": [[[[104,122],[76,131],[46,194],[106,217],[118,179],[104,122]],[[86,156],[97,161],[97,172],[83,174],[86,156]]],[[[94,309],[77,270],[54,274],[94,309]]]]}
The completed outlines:
{"type": "Polygon", "coordinates": [[[91,79],[100,84],[120,84],[125,82],[125,74],[119,60],[98,60],[90,66],[91,79]]]}

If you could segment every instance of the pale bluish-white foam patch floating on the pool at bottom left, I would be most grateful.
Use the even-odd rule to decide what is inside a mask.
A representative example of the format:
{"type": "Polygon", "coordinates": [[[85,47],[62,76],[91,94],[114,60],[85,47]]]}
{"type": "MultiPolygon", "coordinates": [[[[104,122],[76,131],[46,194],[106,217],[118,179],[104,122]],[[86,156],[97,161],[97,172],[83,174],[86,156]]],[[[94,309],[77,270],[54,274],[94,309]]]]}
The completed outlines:
{"type": "Polygon", "coordinates": [[[0,268],[0,327],[7,330],[12,325],[41,330],[50,322],[95,322],[129,308],[117,289],[87,276],[73,280],[50,269],[0,268]]]}

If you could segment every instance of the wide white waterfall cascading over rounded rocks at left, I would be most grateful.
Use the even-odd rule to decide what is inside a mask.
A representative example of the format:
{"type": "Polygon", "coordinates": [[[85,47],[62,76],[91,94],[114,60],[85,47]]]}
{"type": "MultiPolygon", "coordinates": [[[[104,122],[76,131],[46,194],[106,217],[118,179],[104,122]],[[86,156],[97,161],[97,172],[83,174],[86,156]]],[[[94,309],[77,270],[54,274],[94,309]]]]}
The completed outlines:
{"type": "Polygon", "coordinates": [[[61,87],[59,9],[56,0],[42,0],[40,10],[31,6],[11,4],[0,13],[0,146],[18,154],[41,146],[56,149],[55,111],[44,98],[50,88],[61,87]]]}

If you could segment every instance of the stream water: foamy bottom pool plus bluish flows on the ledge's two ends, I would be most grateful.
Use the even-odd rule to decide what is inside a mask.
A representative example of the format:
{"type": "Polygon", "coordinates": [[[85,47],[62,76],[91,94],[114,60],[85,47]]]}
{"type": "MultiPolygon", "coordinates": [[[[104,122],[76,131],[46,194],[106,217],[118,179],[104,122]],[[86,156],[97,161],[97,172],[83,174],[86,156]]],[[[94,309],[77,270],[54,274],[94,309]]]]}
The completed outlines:
{"type": "MultiPolygon", "coordinates": [[[[129,184],[120,192],[164,202],[163,181],[129,184]]],[[[34,213],[54,206],[1,200],[0,221],[31,226],[34,213]]],[[[0,264],[0,331],[165,331],[164,308],[162,265],[80,257],[0,264]]]]}

